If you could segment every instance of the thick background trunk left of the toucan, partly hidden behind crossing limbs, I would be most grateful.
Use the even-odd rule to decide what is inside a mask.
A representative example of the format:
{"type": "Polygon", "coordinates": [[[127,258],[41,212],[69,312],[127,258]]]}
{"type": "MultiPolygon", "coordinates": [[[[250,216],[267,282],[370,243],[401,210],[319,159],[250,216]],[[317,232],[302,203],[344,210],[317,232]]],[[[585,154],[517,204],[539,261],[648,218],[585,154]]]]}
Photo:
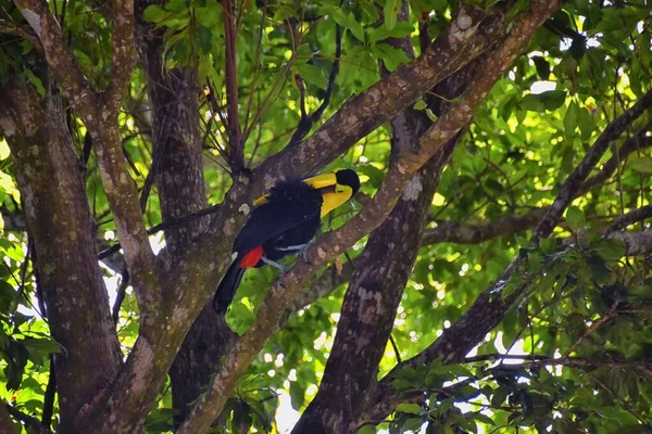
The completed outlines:
{"type": "MultiPolygon", "coordinates": [[[[139,1],[138,13],[150,2],[139,1]]],[[[164,73],[162,64],[162,31],[139,22],[138,52],[148,81],[152,107],[152,170],[159,191],[163,221],[208,206],[204,187],[201,133],[199,130],[199,86],[188,69],[164,73]]],[[[165,243],[172,263],[177,263],[192,239],[205,227],[208,218],[165,230],[165,243]]],[[[170,294],[172,295],[172,294],[170,294]]],[[[197,399],[201,387],[217,369],[220,357],[229,346],[234,333],[206,305],[186,335],[171,369],[175,419],[183,421],[189,404],[197,399]]]]}

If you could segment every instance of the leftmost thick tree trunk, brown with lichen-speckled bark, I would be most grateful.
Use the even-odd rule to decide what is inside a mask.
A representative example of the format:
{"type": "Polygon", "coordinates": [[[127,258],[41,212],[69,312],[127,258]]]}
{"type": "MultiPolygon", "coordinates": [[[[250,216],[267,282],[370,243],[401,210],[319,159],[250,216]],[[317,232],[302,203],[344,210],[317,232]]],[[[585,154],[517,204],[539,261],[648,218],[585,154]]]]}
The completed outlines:
{"type": "Polygon", "coordinates": [[[40,98],[16,80],[0,90],[0,126],[15,162],[50,330],[64,348],[54,367],[60,430],[70,432],[80,408],[113,381],[122,355],[60,97],[40,98]]]}

